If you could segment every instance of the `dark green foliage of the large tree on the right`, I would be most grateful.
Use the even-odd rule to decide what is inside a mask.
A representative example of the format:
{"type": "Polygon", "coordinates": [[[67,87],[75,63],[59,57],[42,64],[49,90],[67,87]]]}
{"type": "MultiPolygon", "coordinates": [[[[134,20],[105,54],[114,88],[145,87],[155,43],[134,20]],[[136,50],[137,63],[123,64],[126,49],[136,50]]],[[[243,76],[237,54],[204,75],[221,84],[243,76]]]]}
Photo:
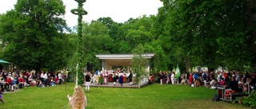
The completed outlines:
{"type": "MultiPolygon", "coordinates": [[[[255,5],[248,6],[251,1],[162,2],[155,29],[162,48],[172,53],[169,58],[185,60],[187,70],[196,65],[238,69],[252,65],[255,52],[251,51],[249,40],[254,41],[254,34],[248,34],[250,26],[246,19],[248,10],[255,10],[255,5]]],[[[255,21],[251,25],[255,25],[255,21]]]]}

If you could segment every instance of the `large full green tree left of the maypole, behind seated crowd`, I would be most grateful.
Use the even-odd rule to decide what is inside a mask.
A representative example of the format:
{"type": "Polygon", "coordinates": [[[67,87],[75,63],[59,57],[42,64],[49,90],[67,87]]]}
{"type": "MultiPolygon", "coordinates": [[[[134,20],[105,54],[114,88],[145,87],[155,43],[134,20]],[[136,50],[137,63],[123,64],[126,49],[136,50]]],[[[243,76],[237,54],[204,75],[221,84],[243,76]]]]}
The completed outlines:
{"type": "Polygon", "coordinates": [[[63,34],[66,21],[61,0],[18,0],[0,19],[0,36],[7,43],[3,56],[26,69],[60,69],[70,55],[63,34]]]}

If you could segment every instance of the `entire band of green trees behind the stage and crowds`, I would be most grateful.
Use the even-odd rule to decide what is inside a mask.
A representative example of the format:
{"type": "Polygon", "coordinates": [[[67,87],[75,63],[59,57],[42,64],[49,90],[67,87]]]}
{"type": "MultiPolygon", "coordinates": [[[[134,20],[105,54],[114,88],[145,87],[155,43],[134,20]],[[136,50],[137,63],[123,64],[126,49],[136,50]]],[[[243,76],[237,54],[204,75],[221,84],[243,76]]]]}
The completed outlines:
{"type": "MultiPolygon", "coordinates": [[[[154,53],[154,70],[181,72],[193,66],[244,70],[256,68],[255,2],[161,0],[157,15],[117,23],[111,18],[83,22],[82,63],[101,68],[98,53],[154,53]]],[[[2,56],[21,68],[70,67],[78,58],[78,38],[66,29],[61,0],[19,0],[0,15],[2,56]]],[[[77,28],[74,28],[77,29],[77,28]]],[[[74,65],[73,65],[74,66],[74,65]]]]}

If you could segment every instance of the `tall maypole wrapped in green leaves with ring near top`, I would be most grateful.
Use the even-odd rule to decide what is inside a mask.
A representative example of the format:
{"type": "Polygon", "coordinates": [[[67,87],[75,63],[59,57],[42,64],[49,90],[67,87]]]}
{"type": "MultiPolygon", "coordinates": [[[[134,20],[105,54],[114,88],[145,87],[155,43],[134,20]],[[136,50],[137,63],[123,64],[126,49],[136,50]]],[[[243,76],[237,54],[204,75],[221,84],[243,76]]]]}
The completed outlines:
{"type": "Polygon", "coordinates": [[[78,15],[78,67],[77,67],[77,76],[76,84],[83,84],[83,72],[82,72],[82,15],[86,15],[87,12],[82,8],[83,3],[86,0],[74,0],[78,2],[78,8],[71,10],[72,14],[78,15]]]}

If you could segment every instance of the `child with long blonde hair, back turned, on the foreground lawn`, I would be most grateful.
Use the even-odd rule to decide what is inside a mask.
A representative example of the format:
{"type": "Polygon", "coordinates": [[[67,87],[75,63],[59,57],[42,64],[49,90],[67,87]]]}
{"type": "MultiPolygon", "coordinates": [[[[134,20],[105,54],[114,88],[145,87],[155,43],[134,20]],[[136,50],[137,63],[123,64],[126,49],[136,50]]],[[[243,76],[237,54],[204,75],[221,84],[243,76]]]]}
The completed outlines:
{"type": "Polygon", "coordinates": [[[87,105],[86,95],[82,91],[82,87],[76,85],[74,87],[74,94],[71,97],[70,95],[66,96],[70,100],[70,107],[72,109],[85,109],[87,105]]]}

